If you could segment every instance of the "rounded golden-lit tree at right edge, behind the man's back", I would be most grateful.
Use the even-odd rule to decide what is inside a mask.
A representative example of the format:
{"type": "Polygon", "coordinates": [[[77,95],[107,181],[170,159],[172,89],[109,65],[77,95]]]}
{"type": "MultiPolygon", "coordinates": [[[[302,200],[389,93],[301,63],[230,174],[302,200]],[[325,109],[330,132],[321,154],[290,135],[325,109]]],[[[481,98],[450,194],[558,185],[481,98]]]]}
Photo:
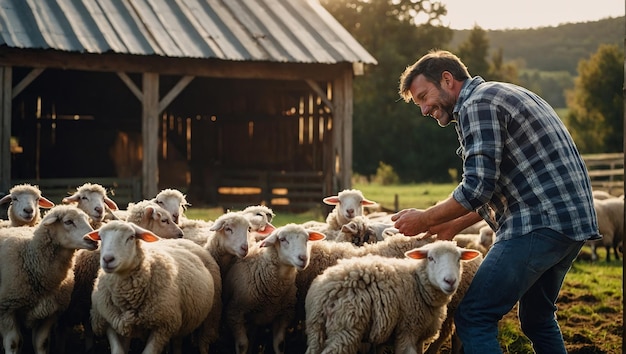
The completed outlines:
{"type": "Polygon", "coordinates": [[[566,117],[582,153],[623,150],[624,56],[616,45],[600,45],[588,60],[578,63],[574,89],[567,93],[566,117]]]}

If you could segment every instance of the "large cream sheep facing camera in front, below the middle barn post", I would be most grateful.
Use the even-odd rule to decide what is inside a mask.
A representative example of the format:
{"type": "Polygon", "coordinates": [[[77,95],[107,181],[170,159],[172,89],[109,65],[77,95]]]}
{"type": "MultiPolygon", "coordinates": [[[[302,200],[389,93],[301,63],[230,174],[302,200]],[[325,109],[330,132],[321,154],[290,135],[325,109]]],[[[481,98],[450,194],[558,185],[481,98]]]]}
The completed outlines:
{"type": "Polygon", "coordinates": [[[158,236],[125,221],[111,221],[88,237],[101,242],[91,324],[94,333],[107,335],[112,353],[123,352],[137,335],[147,335],[144,353],[161,353],[169,340],[205,327],[214,280],[187,249],[199,246],[154,242],[158,236]]]}

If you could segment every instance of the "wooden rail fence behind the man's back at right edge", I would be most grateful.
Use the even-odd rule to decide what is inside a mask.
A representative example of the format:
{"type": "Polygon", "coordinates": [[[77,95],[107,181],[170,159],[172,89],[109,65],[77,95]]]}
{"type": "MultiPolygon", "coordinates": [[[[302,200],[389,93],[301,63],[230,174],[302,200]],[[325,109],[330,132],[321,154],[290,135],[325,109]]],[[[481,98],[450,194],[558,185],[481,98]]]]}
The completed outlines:
{"type": "Polygon", "coordinates": [[[583,155],[591,186],[615,196],[624,194],[624,153],[583,155]]]}

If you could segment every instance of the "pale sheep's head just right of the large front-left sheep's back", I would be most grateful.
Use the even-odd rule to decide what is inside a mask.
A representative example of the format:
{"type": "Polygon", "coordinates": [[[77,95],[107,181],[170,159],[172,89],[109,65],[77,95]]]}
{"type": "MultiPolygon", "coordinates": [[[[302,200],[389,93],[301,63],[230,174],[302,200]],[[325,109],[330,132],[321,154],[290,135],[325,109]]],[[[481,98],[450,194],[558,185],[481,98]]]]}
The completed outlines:
{"type": "Polygon", "coordinates": [[[213,239],[229,254],[239,258],[248,255],[253,241],[250,221],[245,216],[238,212],[228,212],[217,218],[209,230],[215,231],[213,239]]]}

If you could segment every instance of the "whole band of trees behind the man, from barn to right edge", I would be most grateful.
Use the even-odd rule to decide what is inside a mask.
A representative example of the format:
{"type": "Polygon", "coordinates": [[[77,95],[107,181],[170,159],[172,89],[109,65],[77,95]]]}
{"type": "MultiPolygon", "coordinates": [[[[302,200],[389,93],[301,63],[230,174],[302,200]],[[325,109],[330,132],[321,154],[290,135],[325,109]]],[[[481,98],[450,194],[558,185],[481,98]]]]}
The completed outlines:
{"type": "MultiPolygon", "coordinates": [[[[586,44],[586,51],[573,59],[576,71],[572,73],[568,66],[558,70],[550,66],[531,67],[529,63],[534,61],[507,52],[516,41],[532,46],[532,36],[509,39],[511,45],[506,47],[494,46],[492,40],[499,42],[493,38],[504,35],[497,33],[493,37],[492,31],[476,26],[463,31],[463,39],[459,41],[459,31],[442,25],[440,19],[447,10],[440,2],[322,0],[321,3],[378,61],[378,65],[366,66],[365,74],[354,80],[352,169],[355,174],[372,176],[381,166],[390,166],[403,183],[450,182],[461,177],[461,160],[454,153],[459,144],[454,129],[441,128],[431,118],[423,117],[414,105],[397,101],[399,75],[433,48],[448,49],[459,55],[472,75],[525,86],[544,96],[555,108],[567,108],[568,113],[561,119],[581,152],[623,150],[623,47],[607,43],[608,36],[594,38],[594,44],[586,44]],[[595,49],[589,49],[594,46],[595,49]]],[[[622,17],[622,39],[623,20],[622,17]]],[[[563,26],[570,28],[571,33],[586,33],[578,27],[584,25],[589,24],[563,26]]],[[[512,32],[517,36],[519,31],[512,32]]],[[[543,30],[527,33],[535,36],[535,31],[543,30]]],[[[553,57],[548,52],[562,51],[557,44],[542,47],[536,53],[553,57]]],[[[571,53],[577,51],[580,49],[572,48],[571,53]]]]}

